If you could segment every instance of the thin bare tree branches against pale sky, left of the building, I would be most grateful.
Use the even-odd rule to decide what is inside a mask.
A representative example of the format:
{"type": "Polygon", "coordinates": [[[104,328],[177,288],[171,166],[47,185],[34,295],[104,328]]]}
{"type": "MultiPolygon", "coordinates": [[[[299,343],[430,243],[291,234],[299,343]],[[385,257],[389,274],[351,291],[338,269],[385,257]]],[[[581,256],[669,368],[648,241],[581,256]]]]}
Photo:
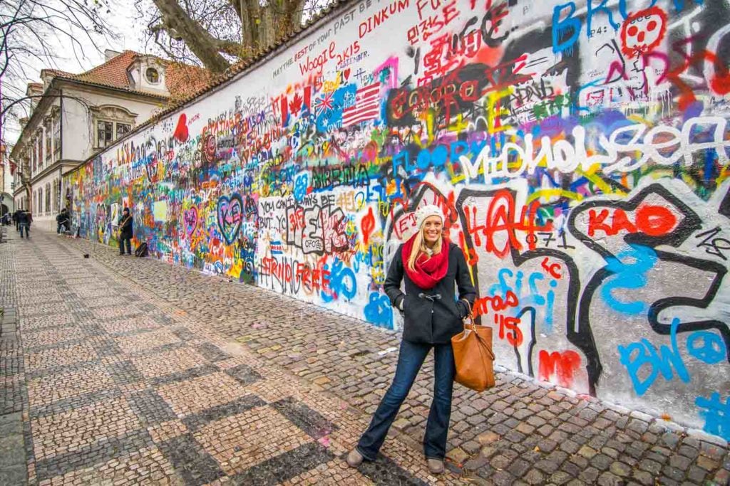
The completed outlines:
{"type": "Polygon", "coordinates": [[[26,95],[38,66],[56,68],[69,45],[82,60],[103,39],[115,39],[107,13],[105,0],[0,0],[0,141],[9,119],[27,117],[40,98],[26,95]]]}

